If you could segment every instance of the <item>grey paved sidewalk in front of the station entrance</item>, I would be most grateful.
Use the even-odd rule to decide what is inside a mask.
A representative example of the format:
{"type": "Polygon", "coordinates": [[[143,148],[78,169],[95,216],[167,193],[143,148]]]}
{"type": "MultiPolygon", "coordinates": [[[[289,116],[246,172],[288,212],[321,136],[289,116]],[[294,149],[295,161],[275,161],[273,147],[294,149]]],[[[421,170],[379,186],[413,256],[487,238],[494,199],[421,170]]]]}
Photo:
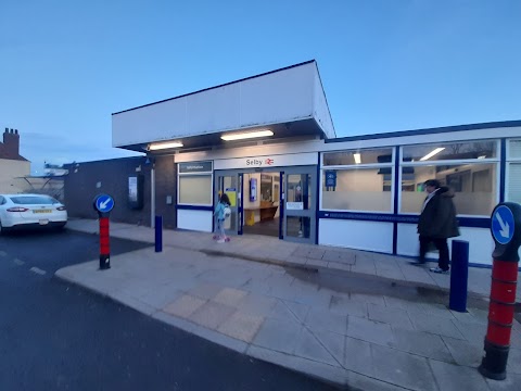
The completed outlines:
{"type": "MultiPolygon", "coordinates": [[[[67,226],[98,232],[97,220],[67,226]]],[[[446,306],[449,276],[407,258],[259,236],[217,243],[209,234],[163,234],[163,252],[113,256],[103,272],[94,260],[56,276],[229,349],[341,386],[521,390],[517,321],[507,379],[485,379],[476,370],[490,269],[469,270],[468,312],[458,313],[446,306]]],[[[125,224],[111,223],[111,236],[154,241],[153,229],[125,224]]]]}

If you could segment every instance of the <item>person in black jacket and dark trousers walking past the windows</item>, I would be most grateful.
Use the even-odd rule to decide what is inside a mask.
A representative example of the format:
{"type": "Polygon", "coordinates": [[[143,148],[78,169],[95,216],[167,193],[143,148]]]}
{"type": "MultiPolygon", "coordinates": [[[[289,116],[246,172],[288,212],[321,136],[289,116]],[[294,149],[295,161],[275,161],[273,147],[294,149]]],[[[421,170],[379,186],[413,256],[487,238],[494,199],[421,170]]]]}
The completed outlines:
{"type": "Polygon", "coordinates": [[[442,187],[436,179],[427,180],[424,186],[428,195],[418,222],[418,234],[420,236],[418,263],[425,263],[429,244],[434,243],[440,251],[440,257],[437,267],[432,267],[430,270],[447,274],[449,268],[447,239],[459,236],[456,206],[453,202],[454,191],[448,187],[442,187]]]}

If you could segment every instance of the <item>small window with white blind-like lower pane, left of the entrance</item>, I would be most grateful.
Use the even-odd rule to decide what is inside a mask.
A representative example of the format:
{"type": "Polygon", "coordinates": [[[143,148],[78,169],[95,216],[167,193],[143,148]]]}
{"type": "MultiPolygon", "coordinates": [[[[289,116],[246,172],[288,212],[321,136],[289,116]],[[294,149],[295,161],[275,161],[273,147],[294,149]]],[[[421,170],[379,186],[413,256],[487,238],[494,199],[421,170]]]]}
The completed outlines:
{"type": "Polygon", "coordinates": [[[178,164],[178,203],[212,205],[212,162],[178,164]]]}

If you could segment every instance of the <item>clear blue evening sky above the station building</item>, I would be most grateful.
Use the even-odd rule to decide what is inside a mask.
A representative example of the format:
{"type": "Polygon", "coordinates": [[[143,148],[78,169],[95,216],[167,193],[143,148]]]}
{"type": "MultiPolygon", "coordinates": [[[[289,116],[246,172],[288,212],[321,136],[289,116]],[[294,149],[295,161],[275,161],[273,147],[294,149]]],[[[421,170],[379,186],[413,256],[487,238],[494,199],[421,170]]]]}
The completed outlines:
{"type": "Polygon", "coordinates": [[[111,114],[315,59],[339,137],[521,119],[518,0],[0,2],[0,129],[40,171],[111,114]]]}

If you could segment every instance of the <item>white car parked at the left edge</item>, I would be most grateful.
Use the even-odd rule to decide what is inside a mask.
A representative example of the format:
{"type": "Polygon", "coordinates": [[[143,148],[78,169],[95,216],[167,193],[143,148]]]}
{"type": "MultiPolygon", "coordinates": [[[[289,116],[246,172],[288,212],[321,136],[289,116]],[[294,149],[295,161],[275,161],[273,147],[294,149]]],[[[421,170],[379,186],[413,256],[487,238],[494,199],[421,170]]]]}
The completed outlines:
{"type": "Polygon", "coordinates": [[[0,234],[15,228],[63,228],[67,210],[45,194],[0,194],[0,234]]]}

